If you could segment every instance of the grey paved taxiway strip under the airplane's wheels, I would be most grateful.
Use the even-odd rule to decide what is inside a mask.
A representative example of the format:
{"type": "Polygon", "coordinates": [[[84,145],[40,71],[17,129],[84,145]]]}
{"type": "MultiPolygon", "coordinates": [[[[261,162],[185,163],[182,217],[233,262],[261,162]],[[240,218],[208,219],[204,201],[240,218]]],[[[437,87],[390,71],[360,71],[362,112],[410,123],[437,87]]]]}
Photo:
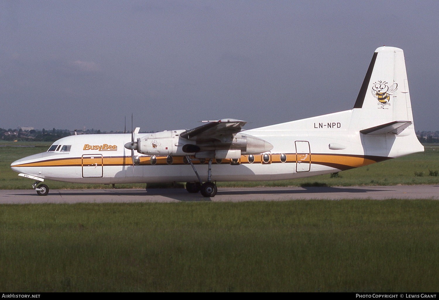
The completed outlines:
{"type": "Polygon", "coordinates": [[[29,203],[129,203],[196,201],[285,201],[342,199],[432,199],[439,200],[439,186],[339,186],[219,188],[214,198],[186,189],[54,189],[38,196],[33,189],[0,190],[0,204],[29,203]]]}

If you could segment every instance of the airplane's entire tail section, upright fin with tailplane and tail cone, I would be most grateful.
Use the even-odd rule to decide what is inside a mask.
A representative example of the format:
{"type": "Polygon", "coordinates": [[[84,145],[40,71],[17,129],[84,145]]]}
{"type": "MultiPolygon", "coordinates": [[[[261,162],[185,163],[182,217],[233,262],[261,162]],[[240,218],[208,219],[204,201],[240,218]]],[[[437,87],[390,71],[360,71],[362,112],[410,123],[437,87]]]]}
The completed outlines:
{"type": "Polygon", "coordinates": [[[360,129],[367,153],[398,157],[424,151],[414,132],[403,50],[386,46],[375,50],[352,117],[351,125],[360,129]]]}

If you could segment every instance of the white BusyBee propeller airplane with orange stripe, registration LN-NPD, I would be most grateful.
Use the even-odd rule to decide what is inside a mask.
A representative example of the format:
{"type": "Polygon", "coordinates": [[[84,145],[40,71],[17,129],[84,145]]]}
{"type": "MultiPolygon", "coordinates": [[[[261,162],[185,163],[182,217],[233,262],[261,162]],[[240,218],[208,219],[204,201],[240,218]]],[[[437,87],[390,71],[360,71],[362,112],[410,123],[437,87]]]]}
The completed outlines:
{"type": "Polygon", "coordinates": [[[73,135],[11,164],[19,176],[76,183],[186,182],[214,197],[216,182],[328,174],[424,151],[415,131],[403,50],[382,46],[352,109],[243,130],[245,121],[205,121],[194,129],[73,135]]]}

